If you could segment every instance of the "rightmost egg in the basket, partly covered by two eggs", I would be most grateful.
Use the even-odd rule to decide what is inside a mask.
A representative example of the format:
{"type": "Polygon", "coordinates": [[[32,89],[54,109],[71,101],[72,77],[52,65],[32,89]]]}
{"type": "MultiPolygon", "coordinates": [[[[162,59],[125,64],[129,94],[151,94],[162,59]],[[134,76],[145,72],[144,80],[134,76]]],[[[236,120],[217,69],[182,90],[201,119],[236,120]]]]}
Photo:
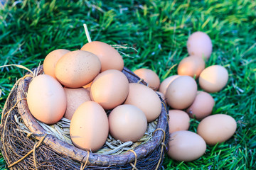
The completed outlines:
{"type": "Polygon", "coordinates": [[[143,84],[129,84],[129,94],[124,104],[131,104],[140,108],[145,113],[148,122],[158,118],[161,113],[159,96],[154,90],[143,84]]]}

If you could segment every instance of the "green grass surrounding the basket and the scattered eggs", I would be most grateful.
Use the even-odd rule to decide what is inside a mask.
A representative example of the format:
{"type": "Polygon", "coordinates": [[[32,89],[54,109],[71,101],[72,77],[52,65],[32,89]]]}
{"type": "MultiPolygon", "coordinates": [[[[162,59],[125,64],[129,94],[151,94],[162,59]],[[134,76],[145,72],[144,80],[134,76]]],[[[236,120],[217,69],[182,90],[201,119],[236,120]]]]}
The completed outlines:
{"type": "MultiPolygon", "coordinates": [[[[165,157],[163,169],[255,169],[256,167],[256,1],[7,1],[0,4],[0,65],[22,64],[32,69],[55,49],[78,50],[92,40],[134,47],[120,50],[129,69],[153,69],[161,81],[177,74],[187,57],[186,40],[201,30],[213,42],[206,66],[223,65],[229,80],[211,94],[213,114],[233,116],[238,123],[227,142],[207,147],[193,162],[165,157]]],[[[0,112],[16,79],[25,71],[0,69],[0,112]]],[[[198,121],[191,120],[196,132],[198,121]]],[[[0,155],[1,157],[1,155],[0,155]]],[[[0,167],[5,169],[4,159],[0,167]]]]}

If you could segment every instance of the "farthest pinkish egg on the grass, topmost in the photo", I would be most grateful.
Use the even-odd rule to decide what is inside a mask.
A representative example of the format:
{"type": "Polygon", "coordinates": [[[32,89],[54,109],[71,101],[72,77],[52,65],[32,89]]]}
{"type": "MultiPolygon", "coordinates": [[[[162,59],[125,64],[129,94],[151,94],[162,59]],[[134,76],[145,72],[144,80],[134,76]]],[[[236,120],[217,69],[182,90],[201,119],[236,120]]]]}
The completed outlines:
{"type": "Polygon", "coordinates": [[[202,57],[208,60],[213,51],[213,44],[210,37],[201,31],[192,33],[186,43],[188,54],[195,55],[196,57],[202,57]]]}

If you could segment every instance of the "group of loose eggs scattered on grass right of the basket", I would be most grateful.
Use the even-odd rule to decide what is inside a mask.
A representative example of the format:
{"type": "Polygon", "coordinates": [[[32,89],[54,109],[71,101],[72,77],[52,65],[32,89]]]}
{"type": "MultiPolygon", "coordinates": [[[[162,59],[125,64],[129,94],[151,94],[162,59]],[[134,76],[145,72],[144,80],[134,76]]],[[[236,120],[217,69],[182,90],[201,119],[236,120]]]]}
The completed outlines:
{"type": "Polygon", "coordinates": [[[230,115],[211,115],[215,101],[210,93],[220,91],[228,83],[225,67],[206,67],[212,46],[206,33],[198,31],[191,34],[187,40],[189,56],[178,63],[178,74],[167,77],[161,84],[157,74],[150,69],[134,71],[159,93],[170,108],[168,155],[177,161],[198,159],[206,152],[206,145],[225,142],[237,128],[235,119],[230,115]],[[198,85],[203,91],[198,91],[198,85]],[[188,131],[190,118],[200,121],[197,133],[188,131]]]}

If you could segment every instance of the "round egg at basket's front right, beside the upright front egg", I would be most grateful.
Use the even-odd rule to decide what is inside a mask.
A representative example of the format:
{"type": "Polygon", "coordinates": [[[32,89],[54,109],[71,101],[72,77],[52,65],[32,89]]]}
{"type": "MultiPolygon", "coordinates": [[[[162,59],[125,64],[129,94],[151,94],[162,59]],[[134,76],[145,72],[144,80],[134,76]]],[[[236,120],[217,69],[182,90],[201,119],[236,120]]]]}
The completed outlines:
{"type": "Polygon", "coordinates": [[[136,106],[120,105],[109,115],[110,134],[122,142],[139,140],[147,128],[146,116],[136,106]]]}

